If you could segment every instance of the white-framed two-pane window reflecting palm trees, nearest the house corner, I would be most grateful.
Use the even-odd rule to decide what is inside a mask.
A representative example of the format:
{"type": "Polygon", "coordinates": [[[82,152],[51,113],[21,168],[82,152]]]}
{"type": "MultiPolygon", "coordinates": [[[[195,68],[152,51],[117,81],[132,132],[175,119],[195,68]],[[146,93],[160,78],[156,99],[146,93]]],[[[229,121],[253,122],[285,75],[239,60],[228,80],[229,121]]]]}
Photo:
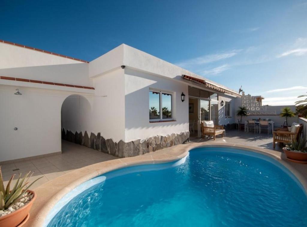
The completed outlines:
{"type": "Polygon", "coordinates": [[[173,93],[149,90],[149,119],[173,119],[173,93]]]}

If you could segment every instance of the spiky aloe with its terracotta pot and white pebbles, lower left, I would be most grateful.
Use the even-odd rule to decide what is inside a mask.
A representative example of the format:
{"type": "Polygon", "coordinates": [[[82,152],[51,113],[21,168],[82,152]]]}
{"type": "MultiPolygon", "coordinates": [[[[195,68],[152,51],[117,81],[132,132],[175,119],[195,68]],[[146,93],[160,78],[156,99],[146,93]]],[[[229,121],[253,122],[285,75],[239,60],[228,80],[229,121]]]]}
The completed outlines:
{"type": "Polygon", "coordinates": [[[7,186],[4,187],[1,166],[0,166],[0,226],[12,227],[21,226],[29,218],[29,210],[31,209],[33,202],[36,198],[34,191],[29,190],[29,187],[36,182],[33,181],[29,184],[29,179],[33,175],[31,171],[23,178],[19,174],[14,187],[10,189],[10,185],[14,179],[14,175],[10,178],[7,186]],[[29,184],[29,185],[28,185],[29,184]]]}

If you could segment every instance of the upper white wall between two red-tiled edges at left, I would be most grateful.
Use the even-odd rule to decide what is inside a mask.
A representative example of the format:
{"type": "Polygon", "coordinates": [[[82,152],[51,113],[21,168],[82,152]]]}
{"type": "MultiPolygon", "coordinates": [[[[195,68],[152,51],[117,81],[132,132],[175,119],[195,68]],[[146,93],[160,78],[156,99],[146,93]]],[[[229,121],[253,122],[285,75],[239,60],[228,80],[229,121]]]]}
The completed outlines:
{"type": "Polygon", "coordinates": [[[0,75],[92,87],[80,61],[0,43],[0,75]]]}

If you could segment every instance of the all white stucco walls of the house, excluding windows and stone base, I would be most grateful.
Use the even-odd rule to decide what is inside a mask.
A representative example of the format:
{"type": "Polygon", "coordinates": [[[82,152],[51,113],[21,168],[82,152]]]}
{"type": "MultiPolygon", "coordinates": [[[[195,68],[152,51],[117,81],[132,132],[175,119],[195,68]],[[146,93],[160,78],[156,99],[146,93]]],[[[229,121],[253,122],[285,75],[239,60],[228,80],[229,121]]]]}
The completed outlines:
{"type": "MultiPolygon", "coordinates": [[[[115,142],[186,132],[188,81],[182,80],[182,74],[199,77],[127,45],[120,45],[90,63],[82,63],[0,43],[2,76],[95,88],[1,79],[0,161],[61,151],[61,127],[88,134],[100,132],[105,139],[115,142]],[[20,88],[22,96],[14,95],[16,88],[20,88]],[[149,88],[173,92],[175,121],[149,122],[149,88]],[[182,92],[186,95],[185,102],[181,102],[182,92]],[[14,131],[14,127],[18,130],[14,131]]],[[[235,98],[220,95],[219,103],[221,99],[234,102],[235,98]]],[[[231,108],[234,114],[235,105],[231,108]]],[[[223,118],[225,110],[219,105],[220,111],[219,124],[234,121],[234,117],[223,118]]]]}

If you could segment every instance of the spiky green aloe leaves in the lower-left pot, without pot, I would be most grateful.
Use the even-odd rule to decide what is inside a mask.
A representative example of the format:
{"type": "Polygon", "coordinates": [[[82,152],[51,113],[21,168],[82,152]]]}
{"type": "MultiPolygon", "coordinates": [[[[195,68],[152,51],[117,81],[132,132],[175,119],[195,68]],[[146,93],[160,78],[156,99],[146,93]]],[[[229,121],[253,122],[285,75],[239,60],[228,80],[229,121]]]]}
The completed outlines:
{"type": "Polygon", "coordinates": [[[17,203],[19,200],[24,198],[24,194],[27,192],[30,186],[33,185],[34,182],[41,179],[37,178],[35,181],[33,181],[29,186],[29,179],[32,177],[33,172],[29,171],[29,173],[25,174],[23,178],[21,178],[21,174],[19,174],[19,177],[12,189],[10,189],[10,185],[14,179],[14,175],[10,178],[10,181],[7,183],[6,187],[4,187],[3,184],[3,178],[2,178],[2,172],[1,172],[1,166],[0,166],[0,210],[4,210],[9,208],[10,206],[17,203]]]}

